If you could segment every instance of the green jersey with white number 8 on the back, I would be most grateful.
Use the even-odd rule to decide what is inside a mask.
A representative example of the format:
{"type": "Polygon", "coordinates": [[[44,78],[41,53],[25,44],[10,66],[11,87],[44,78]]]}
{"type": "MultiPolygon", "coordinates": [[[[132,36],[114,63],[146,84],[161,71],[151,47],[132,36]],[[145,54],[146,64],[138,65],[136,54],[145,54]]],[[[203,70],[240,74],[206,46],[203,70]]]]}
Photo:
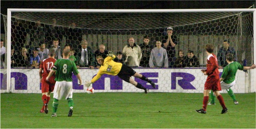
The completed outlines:
{"type": "Polygon", "coordinates": [[[79,73],[75,62],[70,59],[57,59],[52,69],[56,70],[55,81],[72,81],[72,72],[79,73]]]}

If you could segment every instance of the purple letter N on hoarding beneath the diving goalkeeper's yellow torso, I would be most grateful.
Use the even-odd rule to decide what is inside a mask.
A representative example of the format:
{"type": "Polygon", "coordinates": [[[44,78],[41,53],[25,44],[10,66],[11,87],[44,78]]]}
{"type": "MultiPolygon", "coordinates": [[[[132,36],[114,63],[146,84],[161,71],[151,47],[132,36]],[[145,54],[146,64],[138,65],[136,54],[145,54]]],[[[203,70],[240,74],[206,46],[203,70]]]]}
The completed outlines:
{"type": "Polygon", "coordinates": [[[122,79],[108,74],[102,75],[101,78],[93,83],[94,90],[105,90],[105,78],[110,78],[110,90],[122,90],[122,79]]]}

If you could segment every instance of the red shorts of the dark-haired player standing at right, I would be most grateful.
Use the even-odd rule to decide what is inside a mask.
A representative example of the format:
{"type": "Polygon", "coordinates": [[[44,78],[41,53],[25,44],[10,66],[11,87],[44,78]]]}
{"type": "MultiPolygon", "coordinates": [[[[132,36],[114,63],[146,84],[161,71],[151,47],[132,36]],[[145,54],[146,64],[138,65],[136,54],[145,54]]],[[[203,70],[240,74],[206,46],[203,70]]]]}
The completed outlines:
{"type": "Polygon", "coordinates": [[[221,90],[221,81],[218,75],[208,76],[204,84],[204,90],[221,90]]]}

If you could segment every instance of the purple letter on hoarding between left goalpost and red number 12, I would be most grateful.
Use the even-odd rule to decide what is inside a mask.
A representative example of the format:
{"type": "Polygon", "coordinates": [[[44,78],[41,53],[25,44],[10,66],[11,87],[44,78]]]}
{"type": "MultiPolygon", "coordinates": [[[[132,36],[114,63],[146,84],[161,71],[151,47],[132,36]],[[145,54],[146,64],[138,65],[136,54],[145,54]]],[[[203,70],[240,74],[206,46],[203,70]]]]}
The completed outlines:
{"type": "Polygon", "coordinates": [[[11,78],[15,78],[15,90],[28,89],[28,77],[24,73],[12,72],[11,78]]]}

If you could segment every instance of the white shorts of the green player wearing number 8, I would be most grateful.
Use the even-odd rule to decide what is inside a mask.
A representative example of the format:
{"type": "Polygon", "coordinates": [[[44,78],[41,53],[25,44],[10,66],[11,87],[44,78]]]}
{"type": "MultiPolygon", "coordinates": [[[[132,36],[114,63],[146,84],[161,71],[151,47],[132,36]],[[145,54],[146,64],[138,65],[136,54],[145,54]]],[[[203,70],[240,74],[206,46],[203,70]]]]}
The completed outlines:
{"type": "Polygon", "coordinates": [[[53,98],[61,100],[64,96],[65,99],[72,98],[73,95],[73,82],[72,81],[56,81],[53,98]]]}

